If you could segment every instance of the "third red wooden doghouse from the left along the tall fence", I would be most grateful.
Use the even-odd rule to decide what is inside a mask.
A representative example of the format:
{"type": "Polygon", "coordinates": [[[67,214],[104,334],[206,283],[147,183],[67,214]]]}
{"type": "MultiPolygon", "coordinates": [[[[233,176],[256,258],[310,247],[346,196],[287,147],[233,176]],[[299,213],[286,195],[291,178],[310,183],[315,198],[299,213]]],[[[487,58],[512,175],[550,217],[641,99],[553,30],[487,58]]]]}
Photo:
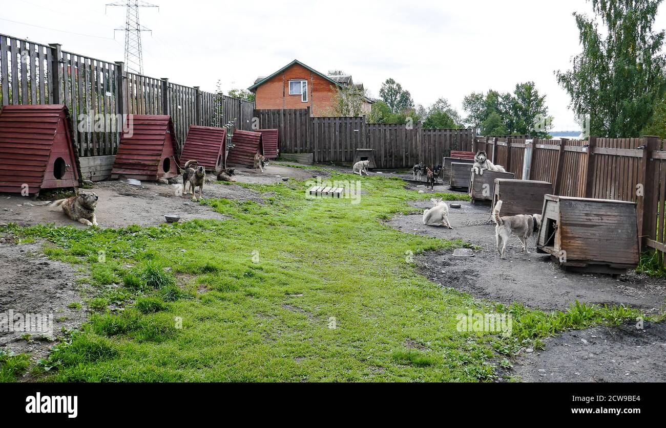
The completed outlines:
{"type": "Polygon", "coordinates": [[[180,166],[196,160],[206,171],[221,171],[225,165],[226,129],[190,125],[180,154],[180,166]]]}

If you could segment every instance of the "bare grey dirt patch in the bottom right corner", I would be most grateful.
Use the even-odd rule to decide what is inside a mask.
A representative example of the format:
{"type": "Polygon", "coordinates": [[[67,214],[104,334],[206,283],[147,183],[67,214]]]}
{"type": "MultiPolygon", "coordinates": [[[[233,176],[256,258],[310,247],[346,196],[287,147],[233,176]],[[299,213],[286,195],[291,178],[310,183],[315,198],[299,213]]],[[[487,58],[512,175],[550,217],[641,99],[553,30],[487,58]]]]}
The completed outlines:
{"type": "Polygon", "coordinates": [[[545,343],[508,373],[527,382],[666,381],[666,322],[573,330],[545,343]]]}

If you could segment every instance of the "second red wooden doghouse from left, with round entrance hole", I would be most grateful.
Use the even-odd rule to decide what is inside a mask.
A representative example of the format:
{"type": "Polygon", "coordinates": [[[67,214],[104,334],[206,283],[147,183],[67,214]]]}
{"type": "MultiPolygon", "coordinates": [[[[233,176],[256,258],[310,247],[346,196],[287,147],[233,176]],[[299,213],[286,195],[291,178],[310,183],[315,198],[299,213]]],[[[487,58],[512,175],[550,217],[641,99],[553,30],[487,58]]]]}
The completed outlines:
{"type": "Polygon", "coordinates": [[[111,178],[157,180],[178,175],[178,142],[171,116],[127,116],[111,178]]]}

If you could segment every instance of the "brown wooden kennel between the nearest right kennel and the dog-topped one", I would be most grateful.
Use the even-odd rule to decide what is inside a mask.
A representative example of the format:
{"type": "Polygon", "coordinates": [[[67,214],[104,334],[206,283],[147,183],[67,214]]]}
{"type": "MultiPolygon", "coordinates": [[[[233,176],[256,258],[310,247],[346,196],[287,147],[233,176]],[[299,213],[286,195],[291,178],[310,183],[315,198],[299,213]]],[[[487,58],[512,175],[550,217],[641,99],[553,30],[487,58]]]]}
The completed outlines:
{"type": "Polygon", "coordinates": [[[501,199],[501,215],[541,214],[543,197],[553,193],[553,185],[548,181],[496,178],[494,188],[490,211],[501,199]]]}

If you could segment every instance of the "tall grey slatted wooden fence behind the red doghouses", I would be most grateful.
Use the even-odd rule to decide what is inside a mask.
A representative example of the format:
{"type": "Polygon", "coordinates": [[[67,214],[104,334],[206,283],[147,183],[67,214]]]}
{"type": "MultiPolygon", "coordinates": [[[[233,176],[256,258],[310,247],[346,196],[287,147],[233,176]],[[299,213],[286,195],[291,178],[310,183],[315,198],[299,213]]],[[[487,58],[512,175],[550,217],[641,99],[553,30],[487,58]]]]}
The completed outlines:
{"type": "Polygon", "coordinates": [[[0,34],[0,104],[65,104],[79,156],[115,154],[123,114],[170,114],[182,145],[191,124],[250,130],[254,102],[203,92],[168,78],[0,34]]]}

